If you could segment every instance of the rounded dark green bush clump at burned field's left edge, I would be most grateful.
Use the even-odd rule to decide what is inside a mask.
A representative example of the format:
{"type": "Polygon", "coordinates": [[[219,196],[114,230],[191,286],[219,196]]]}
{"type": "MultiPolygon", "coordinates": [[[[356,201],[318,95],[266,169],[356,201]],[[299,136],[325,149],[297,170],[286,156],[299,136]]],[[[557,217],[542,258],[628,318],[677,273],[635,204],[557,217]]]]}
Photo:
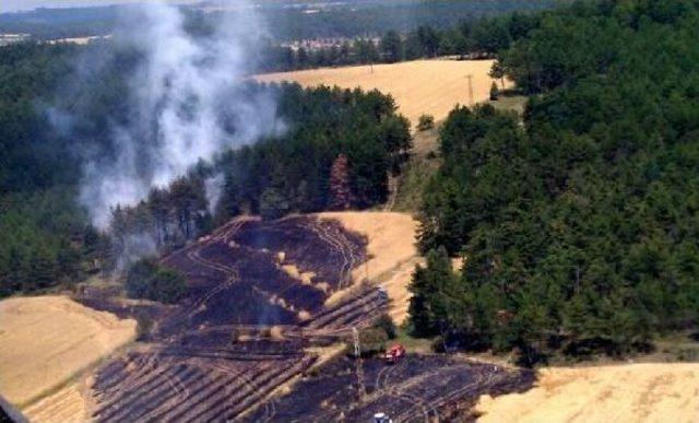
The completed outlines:
{"type": "Polygon", "coordinates": [[[171,304],[187,290],[185,275],[175,269],[158,266],[154,259],[134,262],[127,273],[127,295],[171,304]]]}

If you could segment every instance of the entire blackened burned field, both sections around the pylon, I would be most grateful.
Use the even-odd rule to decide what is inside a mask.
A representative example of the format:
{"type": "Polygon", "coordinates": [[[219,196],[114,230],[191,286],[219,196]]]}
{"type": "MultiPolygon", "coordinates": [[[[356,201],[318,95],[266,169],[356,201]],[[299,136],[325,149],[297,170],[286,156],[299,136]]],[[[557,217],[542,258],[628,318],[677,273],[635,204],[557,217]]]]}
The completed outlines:
{"type": "Polygon", "coordinates": [[[178,305],[119,308],[109,297],[83,298],[152,320],[141,343],[96,372],[93,418],[363,420],[381,410],[411,420],[531,384],[522,374],[446,356],[410,356],[395,366],[369,360],[362,372],[337,359],[308,377],[318,359],[306,346],[346,339],[387,309],[386,294],[371,287],[323,306],[353,283],[365,250],[366,239],[332,220],[240,219],[162,259],[187,275],[178,305]],[[305,377],[289,395],[272,396],[297,376],[305,377]]]}

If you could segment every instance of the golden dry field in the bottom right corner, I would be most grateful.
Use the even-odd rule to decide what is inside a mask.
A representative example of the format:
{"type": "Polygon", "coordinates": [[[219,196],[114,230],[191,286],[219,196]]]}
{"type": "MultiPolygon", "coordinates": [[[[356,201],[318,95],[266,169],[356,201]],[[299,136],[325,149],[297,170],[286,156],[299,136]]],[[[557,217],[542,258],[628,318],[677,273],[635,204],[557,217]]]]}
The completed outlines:
{"type": "Polygon", "coordinates": [[[481,422],[696,422],[699,364],[547,368],[538,387],[485,396],[481,422]]]}

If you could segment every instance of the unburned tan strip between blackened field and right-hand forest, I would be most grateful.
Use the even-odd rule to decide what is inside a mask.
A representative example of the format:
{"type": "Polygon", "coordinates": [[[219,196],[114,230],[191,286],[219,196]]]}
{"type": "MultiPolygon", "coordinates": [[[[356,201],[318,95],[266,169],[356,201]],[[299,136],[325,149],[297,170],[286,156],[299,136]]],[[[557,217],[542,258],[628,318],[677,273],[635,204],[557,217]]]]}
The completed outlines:
{"type": "MultiPolygon", "coordinates": [[[[368,239],[369,261],[353,271],[355,285],[367,278],[387,290],[391,298],[390,315],[401,325],[407,318],[413,268],[422,262],[415,246],[417,222],[410,214],[393,212],[327,212],[321,219],[336,219],[348,231],[363,234],[368,239]]],[[[333,294],[329,304],[346,292],[333,294]]]]}

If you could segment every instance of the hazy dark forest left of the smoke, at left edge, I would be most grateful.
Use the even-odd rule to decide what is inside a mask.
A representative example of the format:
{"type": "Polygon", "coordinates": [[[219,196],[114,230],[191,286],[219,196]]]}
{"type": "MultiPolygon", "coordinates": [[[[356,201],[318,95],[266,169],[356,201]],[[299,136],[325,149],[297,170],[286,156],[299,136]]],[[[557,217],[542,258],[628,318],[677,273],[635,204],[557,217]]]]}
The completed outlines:
{"type": "Polygon", "coordinates": [[[0,295],[80,278],[107,243],[76,205],[72,152],[39,107],[74,52],[21,44],[0,54],[0,295]]]}

